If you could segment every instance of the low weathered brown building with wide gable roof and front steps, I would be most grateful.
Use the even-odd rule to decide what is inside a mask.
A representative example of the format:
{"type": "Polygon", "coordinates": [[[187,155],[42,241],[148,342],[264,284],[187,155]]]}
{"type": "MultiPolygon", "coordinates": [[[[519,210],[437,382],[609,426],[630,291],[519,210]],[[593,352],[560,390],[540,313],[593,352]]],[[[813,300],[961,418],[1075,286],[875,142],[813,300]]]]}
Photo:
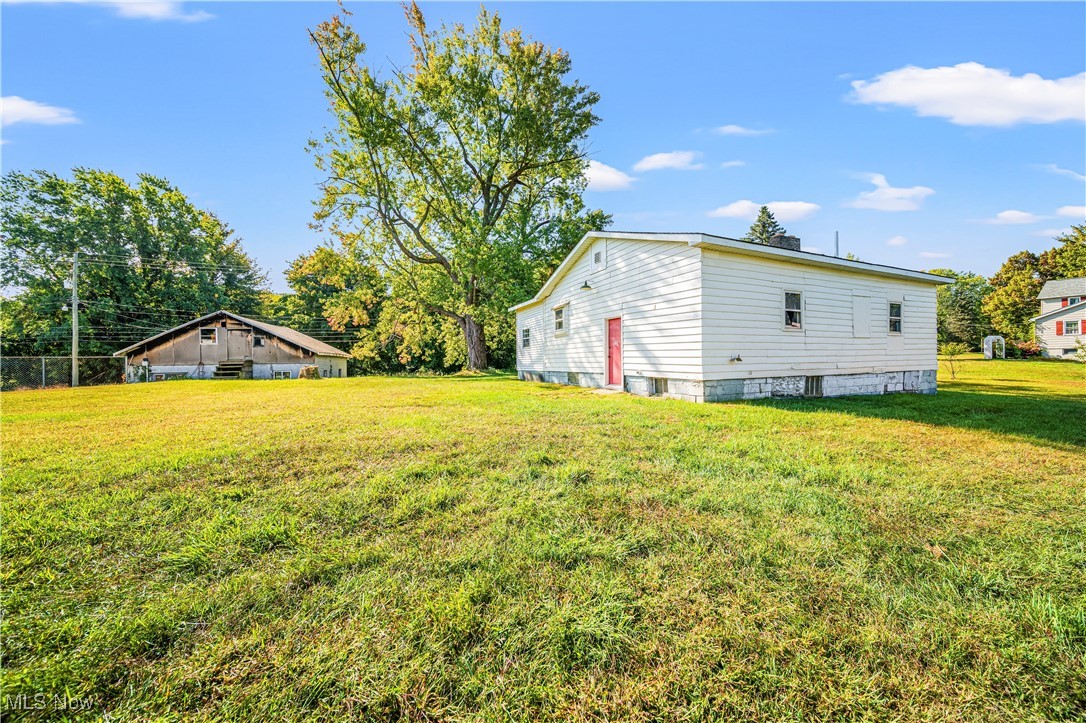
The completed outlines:
{"type": "Polygon", "coordinates": [[[298,379],[302,367],[346,377],[350,356],[301,331],[230,312],[214,312],[163,331],[113,356],[128,381],[164,379],[298,379]]]}

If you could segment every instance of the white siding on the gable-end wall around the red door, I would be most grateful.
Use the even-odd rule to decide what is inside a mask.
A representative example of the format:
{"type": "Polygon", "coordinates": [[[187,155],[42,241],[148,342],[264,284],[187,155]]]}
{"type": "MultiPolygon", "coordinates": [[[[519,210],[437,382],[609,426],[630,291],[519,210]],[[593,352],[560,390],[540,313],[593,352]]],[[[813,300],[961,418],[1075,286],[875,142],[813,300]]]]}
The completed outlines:
{"type": "Polygon", "coordinates": [[[626,375],[700,379],[700,250],[685,243],[595,239],[551,294],[517,313],[517,369],[605,372],[606,322],[622,319],[626,375]],[[595,252],[602,264],[593,264],[595,252]],[[582,291],[588,281],[592,290],[582,291]],[[554,307],[568,304],[556,334],[554,307]],[[529,329],[530,346],[521,343],[529,329]]]}

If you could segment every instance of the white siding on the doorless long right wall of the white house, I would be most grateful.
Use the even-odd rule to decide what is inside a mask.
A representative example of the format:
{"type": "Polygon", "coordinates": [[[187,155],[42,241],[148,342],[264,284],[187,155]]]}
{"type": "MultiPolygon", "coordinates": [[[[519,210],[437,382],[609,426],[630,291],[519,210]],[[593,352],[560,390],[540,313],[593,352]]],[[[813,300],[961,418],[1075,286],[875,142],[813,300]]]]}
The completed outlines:
{"type": "Polygon", "coordinates": [[[935,284],[707,250],[703,287],[706,380],[936,368],[935,284]],[[785,291],[803,293],[803,330],[784,328],[785,291]]]}

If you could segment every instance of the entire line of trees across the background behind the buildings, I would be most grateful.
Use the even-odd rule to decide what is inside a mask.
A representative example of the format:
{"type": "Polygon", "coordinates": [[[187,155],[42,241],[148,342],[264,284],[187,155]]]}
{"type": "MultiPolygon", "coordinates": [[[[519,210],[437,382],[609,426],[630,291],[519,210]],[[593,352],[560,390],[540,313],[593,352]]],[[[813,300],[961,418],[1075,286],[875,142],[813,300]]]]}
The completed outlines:
{"type": "MultiPolygon", "coordinates": [[[[228,308],[349,350],[355,370],[513,366],[508,307],[610,223],[582,201],[598,98],[568,78],[565,52],[485,10],[472,28],[437,31],[416,5],[405,12],[412,62],[383,76],[346,11],[311,33],[334,119],[310,143],[325,174],[316,226],[336,241],[290,264],[290,293],[265,291],[231,229],[162,178],[10,173],[0,352],[67,352],[79,252],[88,354],[228,308]]],[[[1028,339],[1041,284],[1086,276],[1083,231],[1015,254],[992,279],[935,269],[957,279],[939,290],[940,341],[1028,339]]],[[[783,232],[762,207],[746,238],[783,232]]]]}

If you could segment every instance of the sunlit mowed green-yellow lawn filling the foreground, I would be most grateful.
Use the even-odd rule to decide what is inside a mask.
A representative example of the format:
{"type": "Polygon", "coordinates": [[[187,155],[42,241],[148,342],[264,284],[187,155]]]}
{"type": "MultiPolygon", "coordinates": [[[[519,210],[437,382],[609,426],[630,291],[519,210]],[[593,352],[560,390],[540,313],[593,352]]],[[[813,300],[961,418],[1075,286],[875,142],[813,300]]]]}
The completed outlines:
{"type": "Polygon", "coordinates": [[[5,393],[3,714],[1082,720],[1086,367],[940,383],[5,393]]]}

